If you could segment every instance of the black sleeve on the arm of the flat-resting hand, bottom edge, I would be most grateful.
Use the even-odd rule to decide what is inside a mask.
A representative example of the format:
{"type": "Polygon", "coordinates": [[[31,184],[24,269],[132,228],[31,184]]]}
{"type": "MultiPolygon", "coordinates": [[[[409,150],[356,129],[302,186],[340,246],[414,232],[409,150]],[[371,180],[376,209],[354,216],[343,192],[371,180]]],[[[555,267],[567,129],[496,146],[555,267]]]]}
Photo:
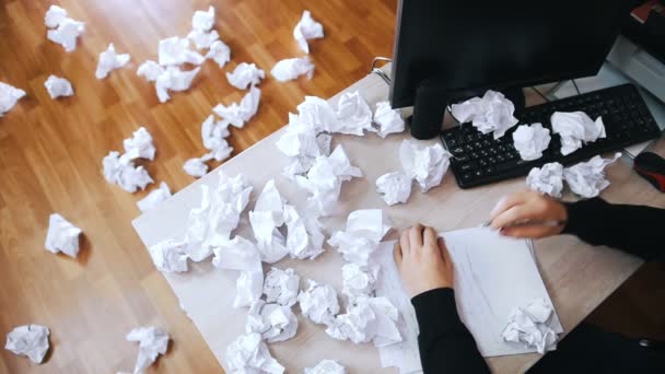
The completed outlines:
{"type": "Polygon", "coordinates": [[[411,299],[420,335],[424,374],[489,373],[474,337],[457,315],[453,289],[435,289],[411,299]]]}

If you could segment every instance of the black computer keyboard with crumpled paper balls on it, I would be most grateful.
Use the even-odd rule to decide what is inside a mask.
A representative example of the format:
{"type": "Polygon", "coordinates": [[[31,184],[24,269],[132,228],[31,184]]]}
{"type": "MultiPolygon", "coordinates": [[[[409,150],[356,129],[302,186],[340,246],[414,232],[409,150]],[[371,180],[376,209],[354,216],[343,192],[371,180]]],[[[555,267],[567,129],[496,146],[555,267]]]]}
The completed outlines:
{"type": "Polygon", "coordinates": [[[498,140],[494,140],[491,132],[482,135],[471,124],[463,124],[441,133],[444,147],[453,154],[451,167],[460,188],[524,176],[533,167],[549,162],[571,165],[599,153],[619,151],[627,145],[661,136],[661,129],[632,84],[529,106],[518,119],[520,124],[498,140]],[[592,119],[602,116],[607,138],[590,142],[564,156],[561,154],[561,139],[558,133],[551,133],[549,119],[555,112],[578,110],[586,113],[592,119]],[[542,157],[524,161],[513,145],[513,132],[520,125],[534,122],[540,122],[550,130],[551,141],[542,152],[542,157]]]}

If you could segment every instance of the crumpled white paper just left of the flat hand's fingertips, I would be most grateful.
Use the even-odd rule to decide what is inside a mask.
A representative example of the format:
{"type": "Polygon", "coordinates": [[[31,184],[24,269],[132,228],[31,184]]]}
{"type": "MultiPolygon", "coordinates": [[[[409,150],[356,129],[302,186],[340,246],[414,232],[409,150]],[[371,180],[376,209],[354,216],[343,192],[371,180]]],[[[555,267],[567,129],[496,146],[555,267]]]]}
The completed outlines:
{"type": "Polygon", "coordinates": [[[352,264],[366,266],[381,239],[390,231],[388,218],[381,209],[352,211],[345,231],[337,231],[328,241],[352,264]]]}

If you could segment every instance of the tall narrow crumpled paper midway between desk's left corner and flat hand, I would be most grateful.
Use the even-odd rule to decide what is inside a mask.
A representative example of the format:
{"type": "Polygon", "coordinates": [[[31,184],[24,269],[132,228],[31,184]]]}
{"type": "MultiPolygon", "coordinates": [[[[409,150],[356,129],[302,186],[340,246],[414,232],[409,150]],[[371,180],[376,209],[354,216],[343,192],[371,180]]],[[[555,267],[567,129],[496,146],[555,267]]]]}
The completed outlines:
{"type": "Polygon", "coordinates": [[[249,212],[249,223],[264,262],[277,262],[289,254],[285,238],[279,231],[284,224],[284,202],[275,179],[270,179],[249,212]]]}

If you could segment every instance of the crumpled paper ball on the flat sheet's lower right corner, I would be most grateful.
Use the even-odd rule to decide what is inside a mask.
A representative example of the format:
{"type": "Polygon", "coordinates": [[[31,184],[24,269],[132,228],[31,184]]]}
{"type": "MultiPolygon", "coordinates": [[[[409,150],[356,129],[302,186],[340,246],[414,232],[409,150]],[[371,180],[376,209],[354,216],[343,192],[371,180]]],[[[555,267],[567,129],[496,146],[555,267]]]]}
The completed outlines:
{"type": "Polygon", "coordinates": [[[536,348],[544,354],[557,342],[557,332],[551,327],[552,306],[545,299],[535,299],[527,305],[515,307],[503,330],[503,339],[522,342],[527,348],[536,348]]]}

